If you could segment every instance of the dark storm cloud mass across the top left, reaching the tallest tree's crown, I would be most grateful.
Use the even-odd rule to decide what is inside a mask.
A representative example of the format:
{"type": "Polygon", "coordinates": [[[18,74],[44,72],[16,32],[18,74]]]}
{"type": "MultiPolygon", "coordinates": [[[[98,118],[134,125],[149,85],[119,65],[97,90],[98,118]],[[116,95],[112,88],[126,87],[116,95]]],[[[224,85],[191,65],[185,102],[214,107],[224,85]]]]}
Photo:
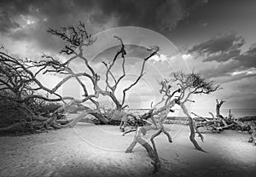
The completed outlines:
{"type": "Polygon", "coordinates": [[[203,3],[207,1],[1,0],[0,33],[14,40],[35,43],[39,49],[56,51],[61,43],[45,32],[49,27],[75,25],[81,20],[90,33],[116,26],[170,30],[203,3]],[[35,23],[24,27],[24,18],[31,18],[35,23]]]}

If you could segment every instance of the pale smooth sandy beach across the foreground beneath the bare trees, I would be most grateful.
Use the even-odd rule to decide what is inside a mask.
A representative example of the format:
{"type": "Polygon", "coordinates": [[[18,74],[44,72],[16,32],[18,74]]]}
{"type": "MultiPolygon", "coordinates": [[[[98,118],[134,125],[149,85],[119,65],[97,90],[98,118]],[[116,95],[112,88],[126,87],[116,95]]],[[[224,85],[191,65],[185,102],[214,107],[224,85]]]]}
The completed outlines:
{"type": "MultiPolygon", "coordinates": [[[[79,123],[75,128],[26,136],[0,137],[0,176],[255,176],[256,147],[248,134],[225,130],[204,134],[196,151],[189,128],[167,125],[173,137],[157,140],[162,168],[153,166],[143,147],[126,154],[134,133],[122,136],[117,126],[79,123]]],[[[144,138],[148,140],[149,135],[144,138]]]]}

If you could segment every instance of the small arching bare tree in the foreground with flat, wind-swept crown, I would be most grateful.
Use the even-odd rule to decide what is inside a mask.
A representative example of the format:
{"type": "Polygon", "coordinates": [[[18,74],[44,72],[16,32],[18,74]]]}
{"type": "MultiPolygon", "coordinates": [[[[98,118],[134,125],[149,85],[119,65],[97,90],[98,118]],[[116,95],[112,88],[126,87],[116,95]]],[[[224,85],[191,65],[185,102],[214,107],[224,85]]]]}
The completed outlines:
{"type": "Polygon", "coordinates": [[[185,74],[182,71],[174,73],[170,80],[163,80],[160,82],[160,94],[163,94],[159,103],[155,104],[144,118],[149,119],[148,125],[138,127],[134,139],[131,145],[126,149],[126,152],[131,152],[136,146],[137,142],[141,144],[148,151],[148,156],[153,160],[154,172],[160,169],[160,159],[158,157],[157,149],[154,143],[154,138],[161,133],[166,134],[169,142],[172,142],[171,135],[166,131],[164,123],[169,111],[172,111],[172,106],[177,104],[181,106],[184,114],[189,118],[190,136],[189,139],[199,151],[204,151],[201,146],[195,140],[195,133],[199,134],[201,140],[203,140],[202,134],[195,128],[192,117],[189,115],[189,111],[185,106],[185,103],[189,100],[192,94],[210,94],[218,90],[219,85],[215,85],[212,82],[207,82],[201,75],[190,73],[185,74]],[[157,132],[150,138],[152,146],[148,144],[141,137],[142,134],[146,134],[148,130],[154,129],[157,132]]]}

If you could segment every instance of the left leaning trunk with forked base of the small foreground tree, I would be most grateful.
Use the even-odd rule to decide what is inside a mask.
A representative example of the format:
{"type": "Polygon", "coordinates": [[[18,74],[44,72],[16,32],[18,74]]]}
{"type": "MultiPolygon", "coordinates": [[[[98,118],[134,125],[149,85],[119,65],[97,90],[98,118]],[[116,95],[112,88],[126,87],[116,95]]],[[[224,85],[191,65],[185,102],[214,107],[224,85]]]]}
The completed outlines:
{"type": "Polygon", "coordinates": [[[177,103],[176,99],[172,100],[172,97],[180,92],[180,88],[177,88],[177,90],[172,92],[172,85],[168,83],[167,80],[164,80],[160,82],[160,94],[163,94],[160,102],[155,104],[151,110],[148,111],[147,114],[144,115],[145,118],[143,119],[146,124],[145,126],[137,127],[136,134],[134,136],[133,141],[131,142],[131,145],[126,149],[126,153],[131,153],[133,148],[139,143],[141,146],[143,146],[146,151],[148,151],[148,157],[150,157],[154,165],[154,173],[160,170],[160,159],[158,157],[157,148],[154,143],[154,138],[156,138],[161,133],[166,134],[166,137],[170,143],[172,143],[172,137],[171,135],[166,131],[164,123],[166,122],[167,114],[170,110],[172,110],[172,106],[174,106],[177,103]],[[156,130],[156,133],[153,134],[150,138],[152,146],[146,142],[146,140],[143,140],[141,135],[147,134],[147,131],[149,130],[156,130]]]}

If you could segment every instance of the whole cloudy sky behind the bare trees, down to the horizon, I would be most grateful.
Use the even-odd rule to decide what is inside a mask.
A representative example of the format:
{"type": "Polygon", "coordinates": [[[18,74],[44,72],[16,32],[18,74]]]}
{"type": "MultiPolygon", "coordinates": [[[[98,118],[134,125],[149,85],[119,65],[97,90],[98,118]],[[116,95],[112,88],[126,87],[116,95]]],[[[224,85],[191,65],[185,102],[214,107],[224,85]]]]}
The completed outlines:
{"type": "MultiPolygon", "coordinates": [[[[86,49],[96,71],[103,73],[102,60],[110,61],[119,49],[114,35],[129,44],[128,76],[119,90],[137,77],[145,49],[160,46],[160,54],[148,61],[142,81],[128,94],[131,108],[156,102],[158,80],[179,70],[194,70],[223,88],[196,96],[191,109],[214,109],[215,99],[226,100],[225,109],[255,108],[255,9],[254,0],[0,0],[0,44],[20,58],[41,60],[44,53],[65,60],[58,53],[63,43],[46,31],[81,20],[97,36],[95,45],[86,49]]],[[[73,67],[84,69],[79,61],[73,67]]],[[[114,72],[121,73],[118,63],[114,72]]],[[[51,87],[60,77],[40,79],[51,87]]],[[[74,81],[59,92],[80,97],[74,81]]]]}

